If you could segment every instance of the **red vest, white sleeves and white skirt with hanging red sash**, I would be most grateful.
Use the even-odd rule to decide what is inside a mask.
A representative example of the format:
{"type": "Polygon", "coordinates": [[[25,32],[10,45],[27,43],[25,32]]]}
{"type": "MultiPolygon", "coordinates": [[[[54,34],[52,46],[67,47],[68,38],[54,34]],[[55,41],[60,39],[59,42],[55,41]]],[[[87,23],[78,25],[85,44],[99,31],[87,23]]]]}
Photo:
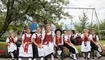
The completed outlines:
{"type": "Polygon", "coordinates": [[[31,38],[32,35],[27,33],[22,36],[22,40],[24,41],[24,48],[22,45],[20,46],[19,57],[33,57],[32,44],[28,44],[28,42],[32,42],[31,38]]]}

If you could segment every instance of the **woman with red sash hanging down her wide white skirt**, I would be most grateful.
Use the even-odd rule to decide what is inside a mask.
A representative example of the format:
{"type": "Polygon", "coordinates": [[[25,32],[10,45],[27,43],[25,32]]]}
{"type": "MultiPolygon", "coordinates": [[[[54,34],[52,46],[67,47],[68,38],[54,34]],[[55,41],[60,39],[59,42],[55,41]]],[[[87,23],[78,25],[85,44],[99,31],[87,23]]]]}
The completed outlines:
{"type": "Polygon", "coordinates": [[[32,52],[32,35],[30,28],[27,28],[26,30],[27,33],[23,34],[22,36],[22,45],[19,48],[19,60],[21,58],[29,58],[29,60],[32,60],[33,57],[33,52],[32,52]]]}

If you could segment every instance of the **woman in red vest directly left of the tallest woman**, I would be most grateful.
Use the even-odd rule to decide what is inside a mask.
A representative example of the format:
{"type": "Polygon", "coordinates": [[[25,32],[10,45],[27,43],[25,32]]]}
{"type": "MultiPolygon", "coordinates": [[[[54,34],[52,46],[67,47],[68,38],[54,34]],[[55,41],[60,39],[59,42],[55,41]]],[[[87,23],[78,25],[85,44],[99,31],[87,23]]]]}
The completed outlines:
{"type": "Polygon", "coordinates": [[[36,58],[41,57],[41,60],[43,60],[42,57],[44,57],[44,50],[42,47],[42,34],[41,34],[41,28],[37,27],[36,33],[32,36],[33,39],[33,58],[36,60],[36,58]]]}

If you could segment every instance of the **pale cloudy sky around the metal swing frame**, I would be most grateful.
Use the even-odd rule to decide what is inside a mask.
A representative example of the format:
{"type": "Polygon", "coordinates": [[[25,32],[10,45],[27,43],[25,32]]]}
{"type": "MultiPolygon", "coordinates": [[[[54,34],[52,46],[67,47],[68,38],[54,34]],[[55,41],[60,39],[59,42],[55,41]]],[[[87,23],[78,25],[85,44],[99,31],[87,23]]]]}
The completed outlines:
{"type": "MultiPolygon", "coordinates": [[[[69,0],[70,4],[66,7],[81,7],[81,8],[95,8],[100,22],[105,19],[105,0],[69,0]]],[[[73,16],[73,22],[78,23],[78,16],[82,16],[82,13],[85,12],[88,16],[88,22],[91,22],[92,10],[79,10],[79,9],[65,9],[65,12],[68,12],[73,16]]],[[[70,18],[61,19],[60,22],[65,22],[68,27],[70,27],[70,18]]],[[[95,14],[93,13],[93,23],[97,23],[95,14]]],[[[74,27],[73,27],[74,29],[74,27]]]]}

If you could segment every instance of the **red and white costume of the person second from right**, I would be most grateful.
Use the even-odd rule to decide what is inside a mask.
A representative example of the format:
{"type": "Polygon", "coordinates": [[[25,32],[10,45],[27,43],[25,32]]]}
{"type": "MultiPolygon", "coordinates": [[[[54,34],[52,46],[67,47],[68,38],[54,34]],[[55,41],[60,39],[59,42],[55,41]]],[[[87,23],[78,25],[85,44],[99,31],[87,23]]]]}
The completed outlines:
{"type": "Polygon", "coordinates": [[[82,52],[91,51],[90,41],[88,40],[89,37],[90,37],[89,34],[88,34],[88,37],[85,34],[81,35],[81,38],[83,39],[82,44],[81,44],[81,51],[82,52]]]}

